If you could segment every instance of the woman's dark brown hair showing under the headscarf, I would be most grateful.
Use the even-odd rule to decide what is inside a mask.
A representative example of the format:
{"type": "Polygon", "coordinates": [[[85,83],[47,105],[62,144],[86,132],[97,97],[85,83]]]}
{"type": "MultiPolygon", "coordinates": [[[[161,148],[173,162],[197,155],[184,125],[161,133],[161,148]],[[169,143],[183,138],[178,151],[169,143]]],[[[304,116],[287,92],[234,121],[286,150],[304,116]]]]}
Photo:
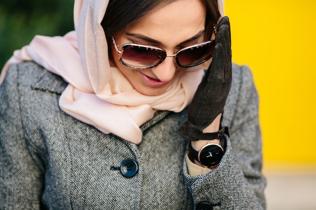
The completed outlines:
{"type": "MultiPolygon", "coordinates": [[[[106,14],[101,22],[101,26],[107,37],[110,59],[113,59],[110,47],[112,44],[111,37],[115,33],[126,29],[155,6],[159,4],[170,4],[174,1],[177,0],[110,0],[106,14]]],[[[213,33],[213,24],[216,24],[220,17],[217,0],[200,1],[204,4],[206,9],[205,31],[206,37],[210,38],[213,33]]]]}

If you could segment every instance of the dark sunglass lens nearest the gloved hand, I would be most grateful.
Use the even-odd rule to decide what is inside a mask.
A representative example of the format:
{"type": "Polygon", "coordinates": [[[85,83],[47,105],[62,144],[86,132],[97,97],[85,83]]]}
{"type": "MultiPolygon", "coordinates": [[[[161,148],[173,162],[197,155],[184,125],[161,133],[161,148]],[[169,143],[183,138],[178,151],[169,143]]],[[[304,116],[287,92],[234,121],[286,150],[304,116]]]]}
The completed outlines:
{"type": "Polygon", "coordinates": [[[212,57],[215,48],[215,42],[203,44],[181,51],[178,54],[178,62],[182,67],[190,67],[205,62],[212,57]]]}

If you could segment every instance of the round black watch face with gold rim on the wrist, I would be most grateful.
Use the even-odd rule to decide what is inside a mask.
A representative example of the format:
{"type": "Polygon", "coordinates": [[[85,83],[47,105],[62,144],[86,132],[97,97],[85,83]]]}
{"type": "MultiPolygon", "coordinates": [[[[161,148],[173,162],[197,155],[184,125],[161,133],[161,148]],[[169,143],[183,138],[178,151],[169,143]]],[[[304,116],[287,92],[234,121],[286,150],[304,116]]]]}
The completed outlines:
{"type": "Polygon", "coordinates": [[[209,143],[198,153],[198,161],[205,167],[217,166],[224,155],[224,149],[218,145],[209,143]]]}

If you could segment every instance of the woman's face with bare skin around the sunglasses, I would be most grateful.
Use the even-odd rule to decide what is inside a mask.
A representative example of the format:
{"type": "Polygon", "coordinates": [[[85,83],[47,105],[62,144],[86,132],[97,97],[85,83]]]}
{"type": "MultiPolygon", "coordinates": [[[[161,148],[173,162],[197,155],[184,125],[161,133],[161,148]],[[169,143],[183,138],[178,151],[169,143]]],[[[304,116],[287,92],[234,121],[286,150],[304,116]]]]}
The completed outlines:
{"type": "MultiPolygon", "coordinates": [[[[119,49],[125,43],[151,45],[163,48],[167,54],[204,41],[205,9],[200,0],[177,0],[158,6],[126,30],[115,34],[119,49]]],[[[177,65],[174,57],[147,69],[135,69],[119,61],[112,45],[116,66],[140,93],[148,96],[163,94],[177,76],[186,68],[177,65]]]]}

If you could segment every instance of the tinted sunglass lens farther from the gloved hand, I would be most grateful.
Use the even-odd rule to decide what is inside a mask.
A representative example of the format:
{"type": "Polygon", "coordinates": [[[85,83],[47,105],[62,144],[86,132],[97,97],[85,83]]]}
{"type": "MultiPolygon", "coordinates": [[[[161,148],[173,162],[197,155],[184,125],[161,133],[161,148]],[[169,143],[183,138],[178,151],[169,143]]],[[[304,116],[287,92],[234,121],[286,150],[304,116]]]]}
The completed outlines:
{"type": "Polygon", "coordinates": [[[122,62],[135,67],[151,67],[166,57],[164,51],[141,46],[126,46],[121,56],[122,62]]]}

